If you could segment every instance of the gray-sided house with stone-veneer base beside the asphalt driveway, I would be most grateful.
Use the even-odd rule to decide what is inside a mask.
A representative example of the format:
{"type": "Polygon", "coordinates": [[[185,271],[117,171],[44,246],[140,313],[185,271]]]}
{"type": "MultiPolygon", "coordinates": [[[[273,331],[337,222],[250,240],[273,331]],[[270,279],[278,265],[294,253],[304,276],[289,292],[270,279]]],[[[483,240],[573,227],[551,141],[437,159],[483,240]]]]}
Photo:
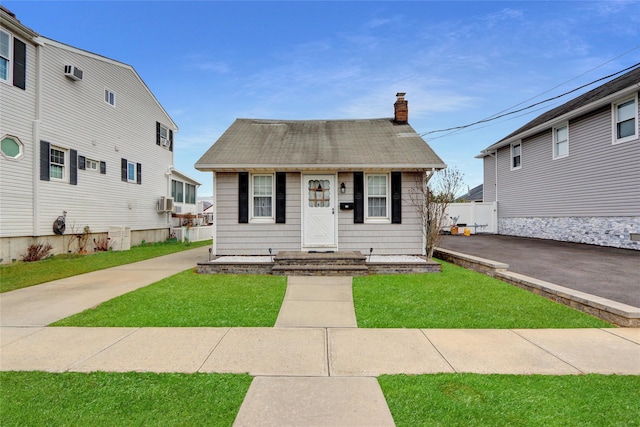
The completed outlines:
{"type": "Polygon", "coordinates": [[[489,146],[498,233],[640,249],[640,68],[489,146]]]}

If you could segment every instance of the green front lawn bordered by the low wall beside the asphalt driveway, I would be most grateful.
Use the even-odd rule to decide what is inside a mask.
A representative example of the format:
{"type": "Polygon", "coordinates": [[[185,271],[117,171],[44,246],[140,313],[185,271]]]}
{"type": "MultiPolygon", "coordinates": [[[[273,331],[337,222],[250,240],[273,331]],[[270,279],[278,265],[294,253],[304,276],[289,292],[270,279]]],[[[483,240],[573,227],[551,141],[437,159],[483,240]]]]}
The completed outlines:
{"type": "Polygon", "coordinates": [[[442,273],[353,279],[361,328],[601,328],[595,317],[443,262],[442,273]]]}

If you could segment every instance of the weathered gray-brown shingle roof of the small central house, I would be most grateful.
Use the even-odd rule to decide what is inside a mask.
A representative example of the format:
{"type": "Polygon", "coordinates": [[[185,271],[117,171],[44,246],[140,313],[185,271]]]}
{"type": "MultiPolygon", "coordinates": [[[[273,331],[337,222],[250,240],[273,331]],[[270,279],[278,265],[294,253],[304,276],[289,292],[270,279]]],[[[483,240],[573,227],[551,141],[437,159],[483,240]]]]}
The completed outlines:
{"type": "Polygon", "coordinates": [[[237,119],[195,164],[247,169],[441,169],[444,162],[408,124],[393,119],[237,119]]]}

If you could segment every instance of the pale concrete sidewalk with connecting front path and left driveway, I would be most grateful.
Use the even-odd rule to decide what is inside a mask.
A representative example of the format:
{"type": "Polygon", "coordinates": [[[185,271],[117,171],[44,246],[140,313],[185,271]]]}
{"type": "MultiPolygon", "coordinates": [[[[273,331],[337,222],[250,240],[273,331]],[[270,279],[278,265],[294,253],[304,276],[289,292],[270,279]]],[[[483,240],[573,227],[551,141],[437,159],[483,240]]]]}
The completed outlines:
{"type": "Polygon", "coordinates": [[[0,369],[255,376],[235,425],[393,425],[375,377],[640,375],[640,329],[358,329],[351,278],[291,277],[275,328],[50,328],[206,259],[199,248],[0,295],[0,369]],[[327,313],[331,313],[327,316],[327,313]]]}

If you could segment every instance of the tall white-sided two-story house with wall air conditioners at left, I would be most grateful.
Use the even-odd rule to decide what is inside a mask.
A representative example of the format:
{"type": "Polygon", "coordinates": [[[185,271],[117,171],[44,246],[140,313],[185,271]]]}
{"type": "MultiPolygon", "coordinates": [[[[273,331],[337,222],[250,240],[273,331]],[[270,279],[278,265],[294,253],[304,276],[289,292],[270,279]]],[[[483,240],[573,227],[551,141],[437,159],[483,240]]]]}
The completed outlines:
{"type": "Polygon", "coordinates": [[[171,117],[132,66],[42,37],[4,8],[0,18],[2,262],[35,242],[73,250],[68,235],[85,226],[164,240],[171,117]],[[53,223],[65,213],[61,237],[53,223]]]}

